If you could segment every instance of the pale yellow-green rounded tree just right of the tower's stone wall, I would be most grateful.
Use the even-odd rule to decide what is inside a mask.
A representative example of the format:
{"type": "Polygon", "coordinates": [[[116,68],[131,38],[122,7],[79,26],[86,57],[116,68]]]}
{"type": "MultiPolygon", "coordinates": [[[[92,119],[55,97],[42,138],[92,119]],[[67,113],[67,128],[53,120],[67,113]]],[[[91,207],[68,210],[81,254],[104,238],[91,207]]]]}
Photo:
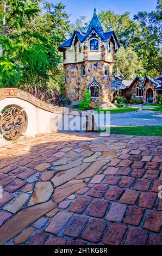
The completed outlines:
{"type": "Polygon", "coordinates": [[[124,49],[122,46],[116,53],[115,58],[114,69],[117,66],[125,79],[133,80],[136,76],[142,76],[144,73],[142,60],[139,59],[133,47],[124,49]]]}

